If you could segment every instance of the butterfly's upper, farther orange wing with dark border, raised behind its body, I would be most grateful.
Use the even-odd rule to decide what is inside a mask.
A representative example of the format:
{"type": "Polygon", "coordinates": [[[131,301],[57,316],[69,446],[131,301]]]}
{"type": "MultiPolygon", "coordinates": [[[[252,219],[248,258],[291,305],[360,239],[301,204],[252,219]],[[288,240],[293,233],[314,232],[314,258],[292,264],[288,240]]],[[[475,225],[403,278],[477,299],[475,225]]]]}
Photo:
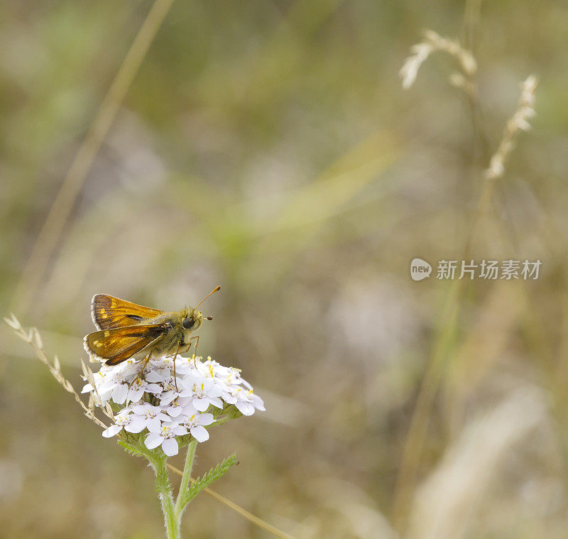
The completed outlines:
{"type": "Polygon", "coordinates": [[[131,326],[145,318],[155,318],[161,314],[163,311],[159,309],[136,305],[107,294],[96,294],[91,302],[92,319],[99,330],[131,326]]]}

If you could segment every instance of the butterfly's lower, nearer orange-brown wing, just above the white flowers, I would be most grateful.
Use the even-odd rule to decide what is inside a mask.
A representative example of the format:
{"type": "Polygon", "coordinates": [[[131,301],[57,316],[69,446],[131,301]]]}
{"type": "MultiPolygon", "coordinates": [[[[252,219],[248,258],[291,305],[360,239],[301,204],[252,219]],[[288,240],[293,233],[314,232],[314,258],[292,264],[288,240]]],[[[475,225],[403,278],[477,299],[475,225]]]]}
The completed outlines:
{"type": "Polygon", "coordinates": [[[167,324],[152,324],[99,330],[85,336],[83,346],[94,359],[107,365],[117,365],[141,352],[169,329],[167,324]]]}

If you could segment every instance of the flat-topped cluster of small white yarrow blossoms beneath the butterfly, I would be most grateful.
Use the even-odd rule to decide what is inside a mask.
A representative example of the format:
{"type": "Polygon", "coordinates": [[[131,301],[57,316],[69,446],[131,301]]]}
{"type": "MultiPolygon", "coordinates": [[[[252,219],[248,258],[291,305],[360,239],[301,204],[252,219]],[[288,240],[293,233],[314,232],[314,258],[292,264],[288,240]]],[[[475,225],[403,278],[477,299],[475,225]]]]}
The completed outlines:
{"type": "MultiPolygon", "coordinates": [[[[240,371],[222,366],[210,357],[191,359],[176,356],[152,359],[143,364],[131,359],[117,366],[106,366],[94,374],[96,391],[102,404],[112,401],[123,405],[114,416],[114,425],[104,430],[104,437],[148,430],[144,443],[148,449],[162,446],[168,456],[178,454],[176,436],[190,434],[198,442],[209,439],[205,428],[215,421],[212,411],[221,411],[224,403],[233,404],[243,415],[264,410],[262,399],[240,371]],[[175,361],[175,377],[174,377],[175,361]]],[[[95,391],[87,383],[82,393],[95,391]]]]}

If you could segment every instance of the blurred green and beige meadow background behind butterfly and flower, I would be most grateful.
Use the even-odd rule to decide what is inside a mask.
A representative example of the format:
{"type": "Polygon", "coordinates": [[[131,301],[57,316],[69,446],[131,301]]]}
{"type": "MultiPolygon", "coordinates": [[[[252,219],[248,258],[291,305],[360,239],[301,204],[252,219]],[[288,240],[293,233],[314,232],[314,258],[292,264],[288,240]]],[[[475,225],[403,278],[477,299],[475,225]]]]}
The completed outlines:
{"type": "MultiPolygon", "coordinates": [[[[200,352],[267,411],[198,447],[197,474],[239,457],[214,489],[295,538],[567,537],[566,4],[174,1],[55,202],[151,6],[0,4],[3,314],[81,388],[94,293],[173,310],[222,285],[200,352]],[[424,28],[474,51],[479,133],[444,53],[401,89],[424,28]],[[530,73],[533,129],[471,229],[530,73]],[[410,279],[468,239],[538,280],[410,279]]],[[[161,537],[144,463],[4,324],[0,354],[1,535],[161,537]]],[[[207,494],[184,526],[272,536],[207,494]]]]}

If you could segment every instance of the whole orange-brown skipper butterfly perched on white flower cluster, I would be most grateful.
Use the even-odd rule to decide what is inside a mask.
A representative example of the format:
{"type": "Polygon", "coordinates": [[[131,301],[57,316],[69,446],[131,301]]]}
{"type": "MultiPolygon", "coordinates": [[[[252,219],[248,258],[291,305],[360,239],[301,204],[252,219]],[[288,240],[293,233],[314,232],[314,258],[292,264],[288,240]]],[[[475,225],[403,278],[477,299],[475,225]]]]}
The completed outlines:
{"type": "Polygon", "coordinates": [[[187,352],[195,339],[195,355],[203,320],[213,320],[197,310],[204,300],[217,292],[217,286],[206,295],[196,307],[164,312],[120,300],[107,294],[93,296],[91,315],[98,331],[89,333],[83,339],[87,354],[106,365],[118,365],[126,359],[150,361],[151,356],[176,356],[187,352]]]}

